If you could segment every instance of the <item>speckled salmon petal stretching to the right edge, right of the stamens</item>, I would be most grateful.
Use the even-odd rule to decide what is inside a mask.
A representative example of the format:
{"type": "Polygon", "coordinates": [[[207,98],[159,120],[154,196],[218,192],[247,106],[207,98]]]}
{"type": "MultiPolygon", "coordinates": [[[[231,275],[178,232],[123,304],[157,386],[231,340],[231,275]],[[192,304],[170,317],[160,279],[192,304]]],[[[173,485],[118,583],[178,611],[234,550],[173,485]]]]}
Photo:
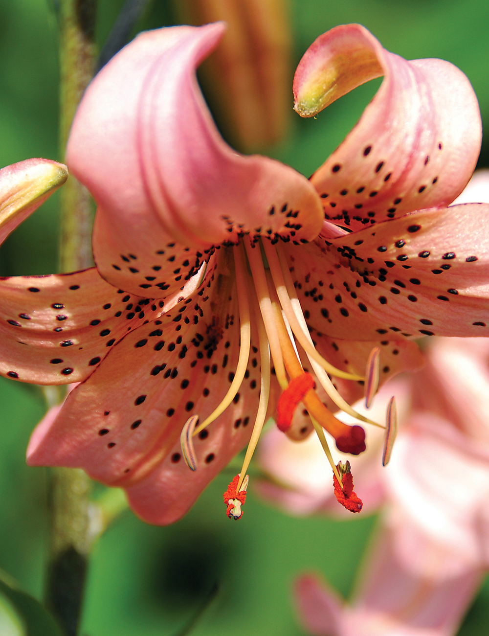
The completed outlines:
{"type": "Polygon", "coordinates": [[[488,222],[488,204],[465,204],[317,241],[304,258],[287,247],[308,322],[336,338],[482,335],[488,222]]]}

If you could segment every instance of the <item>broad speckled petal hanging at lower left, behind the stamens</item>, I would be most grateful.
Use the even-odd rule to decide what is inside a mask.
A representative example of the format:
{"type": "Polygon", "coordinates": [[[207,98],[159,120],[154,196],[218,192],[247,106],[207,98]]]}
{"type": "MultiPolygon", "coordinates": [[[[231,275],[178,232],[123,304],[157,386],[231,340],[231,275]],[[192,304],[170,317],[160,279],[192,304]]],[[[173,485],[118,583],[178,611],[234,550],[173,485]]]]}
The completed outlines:
{"type": "Polygon", "coordinates": [[[205,418],[219,404],[237,364],[239,315],[229,271],[209,273],[209,283],[162,315],[161,324],[149,322],[118,343],[53,424],[34,434],[29,464],[81,466],[107,485],[128,488],[133,508],[148,522],[181,516],[248,441],[258,407],[252,338],[239,396],[196,436],[198,469],[188,469],[181,429],[190,415],[205,418]],[[162,483],[178,488],[169,492],[162,483]]]}

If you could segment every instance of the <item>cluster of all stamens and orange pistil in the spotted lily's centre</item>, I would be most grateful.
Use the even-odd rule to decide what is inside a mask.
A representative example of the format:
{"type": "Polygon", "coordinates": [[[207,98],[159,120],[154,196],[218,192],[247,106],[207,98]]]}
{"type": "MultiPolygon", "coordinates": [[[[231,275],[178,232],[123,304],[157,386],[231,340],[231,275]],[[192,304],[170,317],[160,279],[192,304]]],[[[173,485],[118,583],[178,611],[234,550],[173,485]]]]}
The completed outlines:
{"type": "MultiPolygon", "coordinates": [[[[274,245],[270,240],[262,241],[245,236],[240,240],[240,244],[233,248],[233,256],[240,312],[240,353],[237,368],[228,392],[209,417],[205,418],[201,424],[196,425],[198,416],[193,415],[184,425],[181,434],[184,458],[188,466],[195,470],[197,466],[192,443],[193,437],[219,417],[230,406],[239,391],[249,359],[251,321],[254,321],[258,331],[261,359],[258,411],[240,476],[233,480],[232,488],[230,485],[235,496],[230,496],[230,503],[226,503],[226,505],[231,506],[231,499],[233,502],[234,500],[238,501],[244,492],[243,484],[244,480],[247,479],[246,471],[268,411],[272,362],[273,373],[275,373],[282,389],[277,417],[279,429],[296,441],[305,439],[312,429],[315,429],[331,464],[334,476],[339,486],[342,487],[341,474],[334,464],[323,429],[336,440],[338,450],[352,455],[359,455],[365,450],[365,432],[359,425],[349,426],[334,417],[333,413],[322,403],[315,390],[315,380],[304,368],[303,363],[308,361],[317,381],[338,408],[357,420],[378,426],[379,424],[376,422],[372,422],[357,413],[340,396],[331,380],[331,377],[366,380],[366,398],[370,403],[378,387],[378,347],[373,349],[369,357],[365,377],[334,367],[315,349],[294,290],[282,246],[274,245]],[[303,418],[293,417],[299,404],[303,404],[306,409],[310,419],[307,424],[303,418]]],[[[235,513],[231,516],[240,518],[241,511],[237,515],[236,508],[235,513]]]]}

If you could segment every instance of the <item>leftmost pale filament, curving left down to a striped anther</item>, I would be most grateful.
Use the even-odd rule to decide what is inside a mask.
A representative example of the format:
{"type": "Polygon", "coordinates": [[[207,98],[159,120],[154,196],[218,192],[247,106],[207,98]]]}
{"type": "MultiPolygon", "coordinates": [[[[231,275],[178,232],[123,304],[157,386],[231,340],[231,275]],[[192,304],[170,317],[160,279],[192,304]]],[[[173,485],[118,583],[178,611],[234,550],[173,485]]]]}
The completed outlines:
{"type": "Polygon", "coordinates": [[[248,365],[248,358],[251,346],[251,322],[248,294],[246,290],[247,273],[242,247],[235,247],[235,249],[233,249],[233,254],[235,258],[236,286],[240,313],[240,352],[238,357],[238,364],[236,367],[233,382],[231,382],[231,386],[228,392],[224,396],[221,403],[216,406],[212,413],[210,413],[209,417],[203,420],[202,424],[199,424],[198,427],[196,427],[195,431],[193,432],[194,435],[202,431],[202,429],[205,429],[205,427],[208,426],[211,422],[214,422],[214,420],[219,417],[221,413],[224,413],[226,408],[228,408],[228,406],[235,398],[237,392],[239,391],[239,388],[244,380],[246,367],[248,365]]]}

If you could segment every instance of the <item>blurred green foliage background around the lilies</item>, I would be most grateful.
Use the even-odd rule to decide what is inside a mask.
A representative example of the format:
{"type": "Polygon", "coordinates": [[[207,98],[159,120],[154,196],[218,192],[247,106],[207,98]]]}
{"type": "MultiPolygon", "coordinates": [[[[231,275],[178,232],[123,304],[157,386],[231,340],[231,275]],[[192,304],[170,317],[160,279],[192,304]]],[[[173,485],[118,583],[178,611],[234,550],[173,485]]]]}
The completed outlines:
{"type": "MultiPolygon", "coordinates": [[[[52,0],[53,3],[54,0],[52,0]]],[[[0,165],[31,156],[59,159],[57,149],[57,22],[48,0],[0,0],[0,165]]],[[[407,58],[450,60],[472,81],[489,125],[489,4],[487,0],[293,0],[294,62],[320,33],[360,22],[385,48],[407,58]]],[[[99,0],[101,46],[122,0],[99,0]]],[[[171,6],[155,0],[136,31],[172,24],[171,6]]],[[[352,128],[375,92],[366,85],[314,120],[293,121],[273,155],[306,176],[352,128]]],[[[480,165],[489,165],[483,144],[480,165]]],[[[52,197],[0,249],[0,275],[57,270],[57,197],[52,197]]],[[[46,475],[25,466],[25,448],[42,417],[36,387],[0,378],[0,567],[42,596],[47,539],[46,475]]],[[[320,569],[347,595],[375,523],[289,518],[251,492],[245,518],[231,523],[223,473],[195,508],[172,527],[146,525],[126,511],[95,546],[82,633],[88,636],[177,635],[193,617],[191,633],[295,636],[291,583],[298,572],[320,569]]],[[[460,635],[487,633],[485,586],[460,635]]]]}

